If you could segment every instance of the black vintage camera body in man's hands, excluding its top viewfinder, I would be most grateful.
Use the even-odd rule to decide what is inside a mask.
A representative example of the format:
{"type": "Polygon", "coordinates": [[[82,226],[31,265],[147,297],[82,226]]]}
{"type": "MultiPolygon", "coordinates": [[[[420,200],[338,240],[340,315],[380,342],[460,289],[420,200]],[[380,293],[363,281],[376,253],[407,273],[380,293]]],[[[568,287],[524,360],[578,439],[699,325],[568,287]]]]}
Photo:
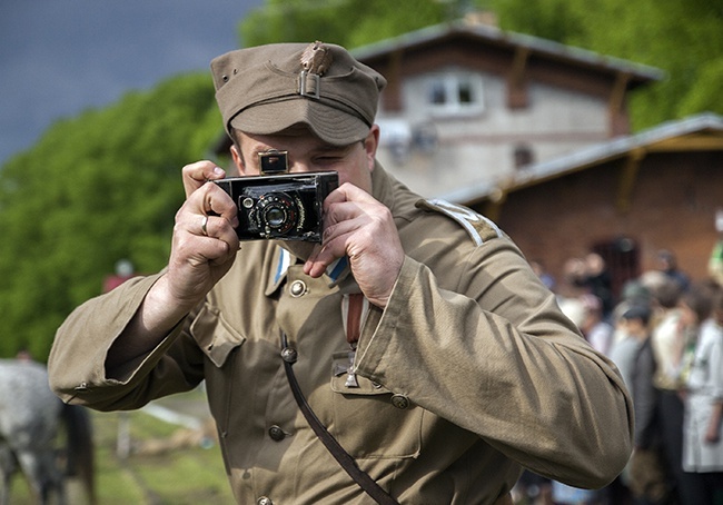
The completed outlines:
{"type": "Polygon", "coordinates": [[[240,240],[321,242],[324,199],[339,186],[335,171],[215,180],[236,202],[240,240]]]}

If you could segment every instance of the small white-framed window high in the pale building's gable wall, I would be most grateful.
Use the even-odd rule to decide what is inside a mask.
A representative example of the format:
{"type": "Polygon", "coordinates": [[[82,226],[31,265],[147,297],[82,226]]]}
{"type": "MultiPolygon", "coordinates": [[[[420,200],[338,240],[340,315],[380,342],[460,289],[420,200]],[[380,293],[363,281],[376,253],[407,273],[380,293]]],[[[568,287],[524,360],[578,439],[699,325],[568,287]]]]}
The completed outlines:
{"type": "Polygon", "coordinates": [[[473,115],[484,110],[482,76],[448,72],[429,79],[427,100],[434,115],[473,115]]]}

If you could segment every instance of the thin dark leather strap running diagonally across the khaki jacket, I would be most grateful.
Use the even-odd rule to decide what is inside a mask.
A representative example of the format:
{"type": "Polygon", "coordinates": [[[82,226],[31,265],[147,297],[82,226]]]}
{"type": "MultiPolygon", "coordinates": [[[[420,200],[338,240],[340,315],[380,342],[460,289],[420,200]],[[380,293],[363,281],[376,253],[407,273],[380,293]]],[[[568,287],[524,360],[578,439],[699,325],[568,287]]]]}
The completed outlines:
{"type": "Polygon", "coordinates": [[[399,505],[382,486],[379,486],[369,475],[357,465],[356,461],[344,450],[344,447],[334,438],[334,436],[321,424],[311,407],[306,402],[304,393],[296,380],[291,365],[296,362],[296,351],[288,347],[286,335],[281,335],[281,357],[284,358],[284,368],[286,369],[286,377],[289,380],[294,399],[301,409],[301,414],[311,426],[311,429],[319,437],[331,456],[341,465],[347,474],[365,491],[366,494],[372,496],[379,505],[399,505]]]}

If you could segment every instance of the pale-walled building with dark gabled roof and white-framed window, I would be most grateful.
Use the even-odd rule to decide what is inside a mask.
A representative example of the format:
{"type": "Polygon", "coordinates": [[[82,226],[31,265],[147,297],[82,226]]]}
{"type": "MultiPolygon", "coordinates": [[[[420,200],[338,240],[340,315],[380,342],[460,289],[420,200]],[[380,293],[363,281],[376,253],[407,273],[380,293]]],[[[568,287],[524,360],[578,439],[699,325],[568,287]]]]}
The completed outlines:
{"type": "Polygon", "coordinates": [[[353,52],[388,81],[377,116],[378,159],[428,197],[630,133],[628,93],[663,77],[651,67],[463,21],[353,52]]]}

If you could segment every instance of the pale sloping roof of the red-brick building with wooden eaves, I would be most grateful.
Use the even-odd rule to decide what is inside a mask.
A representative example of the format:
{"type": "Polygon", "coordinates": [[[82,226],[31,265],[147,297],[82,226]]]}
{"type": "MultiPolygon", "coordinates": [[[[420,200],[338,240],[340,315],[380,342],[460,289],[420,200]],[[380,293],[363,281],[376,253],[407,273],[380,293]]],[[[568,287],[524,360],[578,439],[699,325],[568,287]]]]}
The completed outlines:
{"type": "Polygon", "coordinates": [[[636,135],[618,137],[570,155],[529,165],[503,180],[468,186],[440,198],[472,205],[486,199],[497,199],[501,191],[508,194],[636,152],[643,155],[692,150],[723,150],[722,116],[704,112],[682,120],[663,122],[636,135]]]}

